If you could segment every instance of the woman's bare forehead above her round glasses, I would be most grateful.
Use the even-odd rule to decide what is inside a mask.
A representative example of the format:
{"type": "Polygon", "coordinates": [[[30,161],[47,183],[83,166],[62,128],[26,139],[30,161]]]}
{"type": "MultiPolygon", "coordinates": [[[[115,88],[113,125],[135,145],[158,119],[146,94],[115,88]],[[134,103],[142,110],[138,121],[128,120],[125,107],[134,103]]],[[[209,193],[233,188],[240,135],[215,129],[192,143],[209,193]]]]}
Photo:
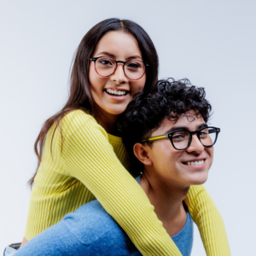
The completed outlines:
{"type": "Polygon", "coordinates": [[[108,32],[101,38],[96,45],[94,55],[106,55],[106,53],[118,59],[129,58],[133,55],[138,55],[142,58],[136,38],[131,33],[122,31],[108,32]]]}

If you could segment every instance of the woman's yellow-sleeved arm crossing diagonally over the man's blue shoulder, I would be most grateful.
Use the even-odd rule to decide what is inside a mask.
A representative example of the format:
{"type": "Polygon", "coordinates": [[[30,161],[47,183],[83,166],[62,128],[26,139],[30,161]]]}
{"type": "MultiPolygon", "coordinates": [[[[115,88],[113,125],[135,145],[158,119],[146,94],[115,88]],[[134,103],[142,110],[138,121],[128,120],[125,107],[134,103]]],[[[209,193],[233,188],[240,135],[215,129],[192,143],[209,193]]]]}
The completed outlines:
{"type": "Polygon", "coordinates": [[[154,213],[147,195],[125,170],[108,135],[82,111],[62,120],[59,147],[67,173],[90,189],[143,255],[181,255],[154,213]]]}

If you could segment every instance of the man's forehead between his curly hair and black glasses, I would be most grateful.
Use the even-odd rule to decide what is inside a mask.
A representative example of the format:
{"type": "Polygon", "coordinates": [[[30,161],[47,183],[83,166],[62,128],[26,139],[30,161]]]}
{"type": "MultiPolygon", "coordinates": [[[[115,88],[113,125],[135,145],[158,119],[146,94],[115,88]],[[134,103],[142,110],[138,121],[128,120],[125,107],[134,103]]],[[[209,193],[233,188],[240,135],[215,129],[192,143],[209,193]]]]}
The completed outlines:
{"type": "Polygon", "coordinates": [[[206,124],[205,120],[201,116],[196,116],[195,112],[189,111],[180,115],[177,122],[165,118],[160,127],[152,133],[152,137],[166,134],[176,128],[186,128],[189,131],[196,131],[202,124],[206,124]]]}

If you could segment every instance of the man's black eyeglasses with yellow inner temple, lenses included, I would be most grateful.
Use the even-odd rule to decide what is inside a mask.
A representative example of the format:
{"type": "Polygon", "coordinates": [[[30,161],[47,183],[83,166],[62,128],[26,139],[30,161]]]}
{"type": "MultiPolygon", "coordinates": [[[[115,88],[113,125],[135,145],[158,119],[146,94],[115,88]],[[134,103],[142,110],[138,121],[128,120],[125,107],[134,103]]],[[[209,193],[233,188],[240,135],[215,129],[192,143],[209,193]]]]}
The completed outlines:
{"type": "Polygon", "coordinates": [[[173,148],[177,150],[184,150],[186,148],[189,148],[192,141],[192,135],[196,134],[204,147],[212,147],[217,142],[219,132],[219,128],[212,126],[203,127],[199,131],[177,129],[165,135],[149,137],[148,139],[143,140],[142,143],[152,143],[154,141],[158,141],[164,138],[169,138],[173,148]]]}

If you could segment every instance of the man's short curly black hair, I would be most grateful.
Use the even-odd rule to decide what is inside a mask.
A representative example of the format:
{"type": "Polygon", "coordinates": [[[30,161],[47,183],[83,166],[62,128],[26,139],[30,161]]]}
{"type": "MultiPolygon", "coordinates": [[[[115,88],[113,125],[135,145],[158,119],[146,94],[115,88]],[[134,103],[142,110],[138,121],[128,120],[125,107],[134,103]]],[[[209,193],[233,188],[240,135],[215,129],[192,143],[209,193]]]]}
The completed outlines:
{"type": "Polygon", "coordinates": [[[207,123],[212,111],[202,87],[190,84],[189,79],[162,79],[148,91],[143,91],[128,105],[119,125],[125,148],[131,156],[133,176],[142,171],[142,163],[133,154],[133,146],[151,136],[165,118],[177,122],[189,110],[207,123]]]}

